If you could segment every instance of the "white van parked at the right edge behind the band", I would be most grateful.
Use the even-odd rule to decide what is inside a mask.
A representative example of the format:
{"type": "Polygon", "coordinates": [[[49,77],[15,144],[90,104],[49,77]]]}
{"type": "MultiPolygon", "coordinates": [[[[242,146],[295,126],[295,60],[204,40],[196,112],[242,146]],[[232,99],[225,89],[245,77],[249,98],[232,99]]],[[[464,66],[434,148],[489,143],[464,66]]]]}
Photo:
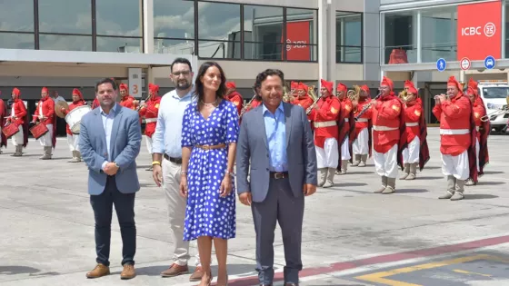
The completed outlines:
{"type": "Polygon", "coordinates": [[[492,128],[500,132],[507,125],[509,111],[501,112],[507,108],[507,96],[509,96],[509,84],[507,81],[484,80],[478,81],[479,94],[483,98],[486,112],[492,123],[492,128]]]}

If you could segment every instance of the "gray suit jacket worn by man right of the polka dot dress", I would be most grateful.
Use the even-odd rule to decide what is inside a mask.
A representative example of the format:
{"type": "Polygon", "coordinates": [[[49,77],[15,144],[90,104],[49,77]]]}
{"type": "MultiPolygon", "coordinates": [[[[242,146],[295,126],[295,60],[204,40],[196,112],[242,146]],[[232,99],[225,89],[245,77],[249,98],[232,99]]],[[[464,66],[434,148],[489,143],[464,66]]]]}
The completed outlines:
{"type": "MultiPolygon", "coordinates": [[[[304,108],[285,103],[283,106],[290,186],[294,196],[301,197],[304,195],[304,183],[317,183],[313,133],[304,108]]],[[[270,181],[269,150],[262,107],[260,105],[244,114],[237,142],[237,193],[251,192],[253,202],[264,201],[270,181]]]]}

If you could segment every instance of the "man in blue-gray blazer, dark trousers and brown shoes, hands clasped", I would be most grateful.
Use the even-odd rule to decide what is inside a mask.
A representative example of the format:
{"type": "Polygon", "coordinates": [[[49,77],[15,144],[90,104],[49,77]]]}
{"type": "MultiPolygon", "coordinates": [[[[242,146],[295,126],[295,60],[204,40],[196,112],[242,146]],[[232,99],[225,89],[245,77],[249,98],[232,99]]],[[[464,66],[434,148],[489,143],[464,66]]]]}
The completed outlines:
{"type": "Polygon", "coordinates": [[[122,234],[121,279],[135,277],[135,192],[140,190],[135,159],[142,133],[138,113],[115,103],[117,86],[106,78],[95,85],[101,104],[81,120],[80,150],[88,166],[88,193],[95,217],[97,265],[86,273],[98,278],[110,273],[109,255],[113,205],[122,234]]]}

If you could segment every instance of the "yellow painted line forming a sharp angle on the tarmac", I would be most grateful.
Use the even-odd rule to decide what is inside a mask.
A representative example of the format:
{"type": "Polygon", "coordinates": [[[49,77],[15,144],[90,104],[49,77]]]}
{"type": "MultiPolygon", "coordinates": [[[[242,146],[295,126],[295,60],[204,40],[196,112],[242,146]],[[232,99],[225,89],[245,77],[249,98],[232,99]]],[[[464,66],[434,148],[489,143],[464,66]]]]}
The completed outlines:
{"type": "Polygon", "coordinates": [[[415,266],[410,266],[410,267],[394,269],[394,270],[390,270],[390,271],[370,273],[370,274],[366,274],[366,275],[357,276],[357,277],[355,277],[355,279],[362,280],[362,281],[370,281],[370,282],[375,282],[375,283],[380,283],[380,284],[390,285],[390,286],[423,286],[423,285],[419,285],[419,284],[407,283],[404,281],[395,281],[395,280],[387,279],[385,277],[389,277],[389,276],[393,276],[393,275],[397,275],[397,274],[414,272],[414,271],[434,269],[434,268],[443,267],[443,266],[452,265],[452,264],[460,264],[460,263],[464,263],[464,262],[480,261],[480,260],[509,263],[509,260],[504,259],[504,258],[496,257],[493,255],[487,255],[487,254],[479,254],[479,255],[473,255],[473,256],[459,257],[459,258],[455,258],[455,259],[451,259],[451,260],[447,260],[447,261],[430,262],[430,263],[425,263],[425,264],[420,264],[420,265],[415,265],[415,266]]]}

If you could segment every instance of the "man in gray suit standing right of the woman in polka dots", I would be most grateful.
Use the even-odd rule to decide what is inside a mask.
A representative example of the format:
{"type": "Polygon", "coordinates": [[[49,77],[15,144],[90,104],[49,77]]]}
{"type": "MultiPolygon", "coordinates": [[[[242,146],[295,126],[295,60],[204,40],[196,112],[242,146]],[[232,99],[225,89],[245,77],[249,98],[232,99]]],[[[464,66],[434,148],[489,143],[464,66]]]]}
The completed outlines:
{"type": "Polygon", "coordinates": [[[236,178],[240,202],[253,212],[260,285],[274,280],[274,229],[279,222],[284,286],[296,286],[303,266],[304,196],[316,192],[316,153],[304,108],[282,102],[283,83],[279,70],[267,69],[256,77],[255,89],[264,104],[242,118],[236,178]]]}

